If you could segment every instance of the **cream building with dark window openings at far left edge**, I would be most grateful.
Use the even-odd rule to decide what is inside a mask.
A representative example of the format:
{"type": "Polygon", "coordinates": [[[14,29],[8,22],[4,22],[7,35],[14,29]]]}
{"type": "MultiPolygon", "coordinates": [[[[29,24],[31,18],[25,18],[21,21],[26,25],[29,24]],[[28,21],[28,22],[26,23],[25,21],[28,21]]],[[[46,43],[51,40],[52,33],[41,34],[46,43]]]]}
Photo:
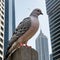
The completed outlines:
{"type": "Polygon", "coordinates": [[[4,55],[4,0],[0,0],[0,60],[4,55]]]}

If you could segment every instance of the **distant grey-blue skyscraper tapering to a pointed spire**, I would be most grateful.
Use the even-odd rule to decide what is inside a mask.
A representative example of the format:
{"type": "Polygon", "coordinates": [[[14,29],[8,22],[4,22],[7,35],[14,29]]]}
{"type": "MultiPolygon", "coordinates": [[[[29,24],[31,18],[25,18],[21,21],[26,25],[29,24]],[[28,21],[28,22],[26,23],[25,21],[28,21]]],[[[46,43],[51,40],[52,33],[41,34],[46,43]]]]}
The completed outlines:
{"type": "Polygon", "coordinates": [[[42,31],[36,39],[36,50],[38,51],[38,60],[49,60],[48,39],[42,31]]]}

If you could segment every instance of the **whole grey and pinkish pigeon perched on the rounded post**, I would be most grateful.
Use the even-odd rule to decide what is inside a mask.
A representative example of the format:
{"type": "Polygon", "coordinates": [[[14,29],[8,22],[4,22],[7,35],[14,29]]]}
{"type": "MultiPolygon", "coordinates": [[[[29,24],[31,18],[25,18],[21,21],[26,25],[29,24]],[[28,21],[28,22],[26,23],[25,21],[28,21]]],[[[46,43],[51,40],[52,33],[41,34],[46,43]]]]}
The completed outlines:
{"type": "Polygon", "coordinates": [[[42,14],[41,10],[36,8],[29,17],[24,18],[19,23],[10,39],[8,52],[12,52],[19,45],[27,44],[27,41],[37,32],[39,28],[38,16],[42,14]]]}

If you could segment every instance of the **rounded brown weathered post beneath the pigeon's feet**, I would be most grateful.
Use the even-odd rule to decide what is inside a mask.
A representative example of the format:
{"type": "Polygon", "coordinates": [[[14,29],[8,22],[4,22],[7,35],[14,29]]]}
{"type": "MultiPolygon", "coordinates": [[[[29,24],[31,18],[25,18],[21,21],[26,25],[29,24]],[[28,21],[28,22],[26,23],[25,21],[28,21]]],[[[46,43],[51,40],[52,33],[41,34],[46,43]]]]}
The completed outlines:
{"type": "Polygon", "coordinates": [[[20,47],[7,60],[38,60],[38,53],[30,47],[20,47]]]}

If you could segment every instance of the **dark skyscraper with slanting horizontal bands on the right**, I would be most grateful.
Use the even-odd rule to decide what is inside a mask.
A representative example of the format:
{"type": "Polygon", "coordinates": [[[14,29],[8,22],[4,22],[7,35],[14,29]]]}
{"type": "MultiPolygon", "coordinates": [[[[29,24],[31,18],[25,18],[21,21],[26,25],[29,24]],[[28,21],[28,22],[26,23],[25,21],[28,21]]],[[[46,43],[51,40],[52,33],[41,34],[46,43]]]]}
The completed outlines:
{"type": "Polygon", "coordinates": [[[46,0],[53,60],[60,60],[60,0],[46,0]]]}

